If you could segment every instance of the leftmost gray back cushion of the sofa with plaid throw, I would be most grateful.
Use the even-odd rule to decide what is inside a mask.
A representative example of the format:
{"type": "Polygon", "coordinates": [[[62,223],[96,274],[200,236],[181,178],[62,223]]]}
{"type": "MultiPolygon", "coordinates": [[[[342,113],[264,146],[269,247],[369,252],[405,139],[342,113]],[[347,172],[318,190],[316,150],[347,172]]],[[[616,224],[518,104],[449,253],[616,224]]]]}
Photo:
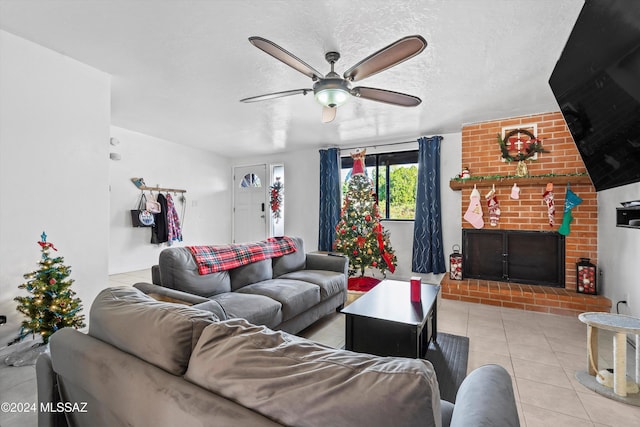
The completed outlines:
{"type": "Polygon", "coordinates": [[[210,297],[231,291],[228,271],[200,275],[193,255],[187,248],[168,248],[160,252],[162,286],[190,294],[210,297]]]}

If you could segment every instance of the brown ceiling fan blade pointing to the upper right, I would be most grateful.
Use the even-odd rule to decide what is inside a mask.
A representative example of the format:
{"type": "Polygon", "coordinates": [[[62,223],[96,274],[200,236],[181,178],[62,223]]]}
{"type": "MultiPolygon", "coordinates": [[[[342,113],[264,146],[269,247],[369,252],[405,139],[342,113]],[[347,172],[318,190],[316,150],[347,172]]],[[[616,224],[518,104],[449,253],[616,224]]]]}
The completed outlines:
{"type": "Polygon", "coordinates": [[[413,58],[427,47],[422,36],[403,37],[380,49],[344,72],[344,78],[353,82],[362,80],[413,58]]]}

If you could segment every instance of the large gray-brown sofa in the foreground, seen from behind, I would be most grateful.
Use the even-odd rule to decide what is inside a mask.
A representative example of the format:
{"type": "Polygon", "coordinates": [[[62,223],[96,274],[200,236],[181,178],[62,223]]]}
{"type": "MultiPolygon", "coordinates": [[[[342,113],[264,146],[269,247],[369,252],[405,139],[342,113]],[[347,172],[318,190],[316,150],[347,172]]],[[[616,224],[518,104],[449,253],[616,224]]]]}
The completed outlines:
{"type": "Polygon", "coordinates": [[[38,359],[40,427],[518,426],[511,378],[487,365],[441,401],[428,361],[333,349],[131,287],[93,302],[89,333],[38,359]]]}

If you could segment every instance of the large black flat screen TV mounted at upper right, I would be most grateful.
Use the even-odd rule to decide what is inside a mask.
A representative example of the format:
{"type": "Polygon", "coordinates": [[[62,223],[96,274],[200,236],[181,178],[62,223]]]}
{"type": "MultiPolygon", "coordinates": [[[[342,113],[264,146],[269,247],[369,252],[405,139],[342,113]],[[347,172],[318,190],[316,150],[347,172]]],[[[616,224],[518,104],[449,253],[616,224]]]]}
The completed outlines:
{"type": "Polygon", "coordinates": [[[596,191],[640,182],[640,1],[586,0],[549,85],[596,191]]]}

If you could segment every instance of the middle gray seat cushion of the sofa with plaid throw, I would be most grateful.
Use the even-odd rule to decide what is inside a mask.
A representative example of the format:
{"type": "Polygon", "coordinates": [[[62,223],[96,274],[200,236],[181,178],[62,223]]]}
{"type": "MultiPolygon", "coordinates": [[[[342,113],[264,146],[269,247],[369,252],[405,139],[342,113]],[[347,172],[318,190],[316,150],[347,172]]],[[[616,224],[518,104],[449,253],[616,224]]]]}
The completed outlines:
{"type": "Polygon", "coordinates": [[[320,302],[320,287],[300,280],[272,279],[247,285],[238,293],[264,295],[282,304],[282,320],[289,320],[320,302]]]}

